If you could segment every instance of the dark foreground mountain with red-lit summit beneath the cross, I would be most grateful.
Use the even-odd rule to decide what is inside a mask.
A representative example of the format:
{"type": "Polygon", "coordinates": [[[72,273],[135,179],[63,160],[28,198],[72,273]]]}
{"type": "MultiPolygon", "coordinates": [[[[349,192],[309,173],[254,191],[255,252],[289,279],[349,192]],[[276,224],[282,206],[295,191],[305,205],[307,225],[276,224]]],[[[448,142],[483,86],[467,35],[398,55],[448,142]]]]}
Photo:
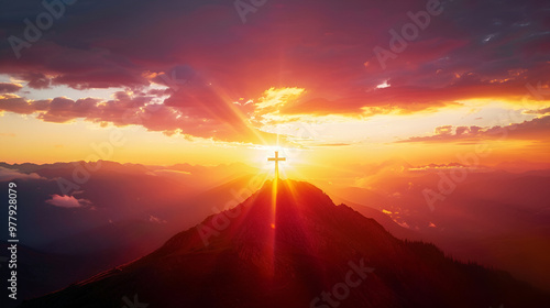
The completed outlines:
{"type": "Polygon", "coordinates": [[[550,307],[550,296],[398,240],[308,183],[276,180],[140,260],[21,307],[501,305],[550,307]]]}

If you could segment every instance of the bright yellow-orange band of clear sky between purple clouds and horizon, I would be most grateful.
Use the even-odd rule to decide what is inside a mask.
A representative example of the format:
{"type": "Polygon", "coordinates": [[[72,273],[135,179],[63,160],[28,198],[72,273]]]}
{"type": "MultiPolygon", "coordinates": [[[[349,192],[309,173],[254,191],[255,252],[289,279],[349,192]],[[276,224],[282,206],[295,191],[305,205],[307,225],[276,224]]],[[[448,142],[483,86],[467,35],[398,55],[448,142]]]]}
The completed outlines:
{"type": "MultiPolygon", "coordinates": [[[[548,162],[546,127],[530,127],[544,117],[529,111],[541,109],[548,101],[472,99],[461,102],[461,106],[436,110],[375,116],[297,117],[279,112],[305,91],[271,88],[255,100],[228,101],[228,105],[255,107],[253,113],[235,110],[235,114],[239,121],[248,123],[251,131],[268,135],[265,143],[168,135],[147,131],[142,125],[101,124],[81,118],[56,123],[41,120],[41,112],[3,112],[0,120],[2,161],[52,163],[102,158],[154,165],[243,162],[263,168],[268,167],[265,157],[278,150],[288,156],[287,168],[293,164],[295,167],[304,164],[346,167],[393,157],[427,165],[460,163],[462,156],[475,154],[476,146],[486,146],[483,153],[475,154],[482,164],[516,160],[548,162]],[[503,129],[491,133],[491,128],[497,125],[503,129]],[[459,129],[463,132],[458,133],[457,128],[463,128],[459,129]],[[276,138],[271,138],[277,133],[279,146],[276,138]]],[[[311,170],[307,168],[307,173],[311,170]]]]}

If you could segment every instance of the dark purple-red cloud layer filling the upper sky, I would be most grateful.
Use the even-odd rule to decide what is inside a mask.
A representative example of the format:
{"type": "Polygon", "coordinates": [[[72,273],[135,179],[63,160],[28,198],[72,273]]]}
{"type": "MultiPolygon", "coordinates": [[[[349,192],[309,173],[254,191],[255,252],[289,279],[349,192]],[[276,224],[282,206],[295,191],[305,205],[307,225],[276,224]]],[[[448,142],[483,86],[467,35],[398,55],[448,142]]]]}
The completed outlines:
{"type": "Polygon", "coordinates": [[[10,1],[0,19],[0,74],[30,89],[119,87],[133,95],[31,101],[15,95],[15,84],[0,84],[0,110],[258,142],[273,136],[251,124],[257,106],[244,102],[271,88],[305,89],[279,116],[366,117],[520,99],[527,82],[548,85],[548,1],[441,1],[442,13],[393,51],[391,31],[403,36],[414,23],[407,13],[426,4],[268,1],[243,24],[232,1],[77,1],[16,59],[9,38],[25,40],[23,20],[35,21],[45,8],[10,1]],[[375,47],[396,56],[381,65],[375,47]],[[150,91],[151,85],[168,89],[150,91]],[[163,105],[148,105],[153,99],[163,105]]]}

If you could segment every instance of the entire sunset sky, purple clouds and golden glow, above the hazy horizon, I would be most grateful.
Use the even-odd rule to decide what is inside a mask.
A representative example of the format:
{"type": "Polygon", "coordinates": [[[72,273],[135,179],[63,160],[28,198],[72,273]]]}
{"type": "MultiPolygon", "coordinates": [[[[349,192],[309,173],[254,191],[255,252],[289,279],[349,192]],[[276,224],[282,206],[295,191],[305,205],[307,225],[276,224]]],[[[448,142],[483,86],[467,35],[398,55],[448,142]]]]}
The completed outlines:
{"type": "Polygon", "coordinates": [[[8,1],[0,161],[548,163],[549,38],[539,0],[8,1]]]}

